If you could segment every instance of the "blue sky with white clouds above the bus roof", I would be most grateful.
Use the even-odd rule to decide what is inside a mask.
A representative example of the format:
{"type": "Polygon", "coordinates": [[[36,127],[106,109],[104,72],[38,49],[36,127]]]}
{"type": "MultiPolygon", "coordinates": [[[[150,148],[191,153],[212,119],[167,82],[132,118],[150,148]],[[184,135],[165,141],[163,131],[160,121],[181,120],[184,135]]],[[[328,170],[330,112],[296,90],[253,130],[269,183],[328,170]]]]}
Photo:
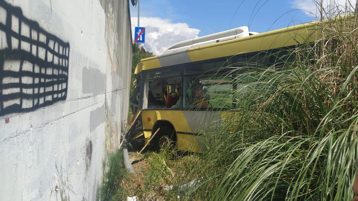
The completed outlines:
{"type": "MultiPolygon", "coordinates": [[[[265,32],[313,21],[315,0],[140,0],[140,26],[146,29],[146,50],[160,55],[180,41],[248,26],[265,32]]],[[[320,1],[320,0],[319,0],[320,1]]],[[[323,0],[326,9],[349,6],[349,0],[323,0]],[[334,2],[334,3],[333,3],[334,2]]],[[[352,0],[355,2],[355,0],[352,0]]],[[[130,5],[132,38],[138,8],[130,5]]]]}

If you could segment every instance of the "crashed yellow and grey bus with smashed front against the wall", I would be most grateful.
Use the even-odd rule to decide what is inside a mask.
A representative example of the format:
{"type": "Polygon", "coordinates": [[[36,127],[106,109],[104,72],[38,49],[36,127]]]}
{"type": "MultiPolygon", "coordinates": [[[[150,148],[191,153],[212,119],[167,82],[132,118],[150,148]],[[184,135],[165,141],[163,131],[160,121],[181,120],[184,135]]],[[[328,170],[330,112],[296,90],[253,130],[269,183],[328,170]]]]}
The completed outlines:
{"type": "Polygon", "coordinates": [[[229,92],[240,86],[231,82],[238,76],[229,74],[232,69],[249,61],[279,62],[285,50],[314,42],[318,23],[265,33],[242,26],[176,43],[161,55],[142,59],[135,69],[137,86],[130,99],[135,118],[126,140],[150,141],[155,149],[174,143],[179,150],[201,152],[200,135],[225,122],[233,107],[229,92]]]}

